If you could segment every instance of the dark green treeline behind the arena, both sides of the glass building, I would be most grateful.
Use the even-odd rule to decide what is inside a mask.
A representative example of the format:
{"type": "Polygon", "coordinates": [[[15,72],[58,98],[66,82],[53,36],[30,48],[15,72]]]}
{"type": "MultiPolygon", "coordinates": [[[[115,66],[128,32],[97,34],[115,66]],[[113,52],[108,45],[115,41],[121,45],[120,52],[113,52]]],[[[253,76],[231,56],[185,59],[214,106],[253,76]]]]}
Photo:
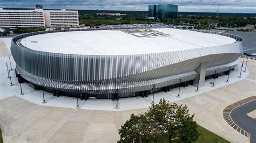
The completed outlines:
{"type": "MultiPolygon", "coordinates": [[[[126,13],[125,16],[97,16],[96,10],[79,11],[79,24],[86,26],[119,25],[119,24],[152,24],[158,23],[146,21],[147,11],[99,11],[110,13],[126,13]]],[[[202,26],[202,27],[242,27],[247,24],[256,24],[255,13],[216,13],[207,12],[178,12],[178,18],[165,19],[164,24],[202,26]]]]}

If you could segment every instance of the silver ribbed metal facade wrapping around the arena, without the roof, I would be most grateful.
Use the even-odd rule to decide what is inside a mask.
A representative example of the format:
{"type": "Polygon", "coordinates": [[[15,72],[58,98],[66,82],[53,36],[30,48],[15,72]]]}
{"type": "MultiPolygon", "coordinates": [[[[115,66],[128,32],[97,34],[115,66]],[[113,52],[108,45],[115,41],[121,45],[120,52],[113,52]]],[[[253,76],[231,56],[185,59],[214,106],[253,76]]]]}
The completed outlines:
{"type": "MultiPolygon", "coordinates": [[[[93,29],[92,29],[93,30],[93,29]]],[[[210,31],[237,40],[232,44],[140,55],[75,55],[35,51],[20,44],[25,37],[59,30],[22,34],[14,37],[11,53],[21,76],[52,90],[86,94],[113,94],[151,90],[190,81],[197,67],[207,61],[206,75],[233,68],[242,54],[241,37],[210,31]],[[118,89],[118,91],[117,91],[118,89]]]]}

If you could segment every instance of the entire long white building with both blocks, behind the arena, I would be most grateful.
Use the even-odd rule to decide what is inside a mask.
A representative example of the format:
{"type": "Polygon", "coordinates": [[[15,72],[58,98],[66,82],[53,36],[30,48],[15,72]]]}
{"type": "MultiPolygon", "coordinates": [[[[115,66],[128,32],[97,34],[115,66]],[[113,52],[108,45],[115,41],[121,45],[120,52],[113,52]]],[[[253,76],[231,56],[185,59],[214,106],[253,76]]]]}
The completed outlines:
{"type": "Polygon", "coordinates": [[[66,11],[65,9],[6,10],[0,8],[0,28],[70,27],[78,25],[78,11],[66,11]]]}

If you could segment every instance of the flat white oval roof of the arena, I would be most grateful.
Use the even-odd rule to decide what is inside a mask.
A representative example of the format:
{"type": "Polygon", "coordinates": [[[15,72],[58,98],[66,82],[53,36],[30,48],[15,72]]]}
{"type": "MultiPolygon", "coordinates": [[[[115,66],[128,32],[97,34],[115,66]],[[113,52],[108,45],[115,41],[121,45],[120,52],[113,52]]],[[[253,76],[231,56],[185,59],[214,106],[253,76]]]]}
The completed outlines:
{"type": "Polygon", "coordinates": [[[148,32],[145,36],[144,32],[127,33],[122,30],[58,32],[27,37],[22,39],[21,43],[37,51],[53,53],[130,55],[180,51],[235,42],[232,38],[217,34],[173,28],[150,30],[156,31],[158,34],[148,32]],[[169,35],[160,35],[159,32],[169,35]]]}

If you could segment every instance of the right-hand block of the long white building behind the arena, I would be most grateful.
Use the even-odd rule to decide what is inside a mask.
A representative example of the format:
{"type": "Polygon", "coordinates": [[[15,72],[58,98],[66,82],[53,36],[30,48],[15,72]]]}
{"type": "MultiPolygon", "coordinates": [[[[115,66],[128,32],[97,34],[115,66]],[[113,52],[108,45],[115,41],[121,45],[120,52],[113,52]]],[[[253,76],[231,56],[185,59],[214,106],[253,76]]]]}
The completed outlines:
{"type": "Polygon", "coordinates": [[[78,11],[44,10],[46,27],[78,26],[78,11]]]}

